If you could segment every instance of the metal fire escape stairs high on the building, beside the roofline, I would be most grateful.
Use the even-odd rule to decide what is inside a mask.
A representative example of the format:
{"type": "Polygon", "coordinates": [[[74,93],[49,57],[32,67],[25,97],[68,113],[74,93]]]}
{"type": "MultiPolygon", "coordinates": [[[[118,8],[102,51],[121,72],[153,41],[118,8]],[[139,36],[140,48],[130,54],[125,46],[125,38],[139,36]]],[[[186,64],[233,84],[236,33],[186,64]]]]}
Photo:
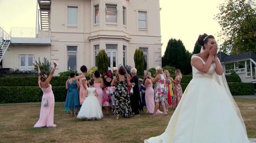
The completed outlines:
{"type": "Polygon", "coordinates": [[[38,0],[38,5],[40,7],[40,30],[49,30],[50,29],[50,8],[51,0],[38,0]]]}

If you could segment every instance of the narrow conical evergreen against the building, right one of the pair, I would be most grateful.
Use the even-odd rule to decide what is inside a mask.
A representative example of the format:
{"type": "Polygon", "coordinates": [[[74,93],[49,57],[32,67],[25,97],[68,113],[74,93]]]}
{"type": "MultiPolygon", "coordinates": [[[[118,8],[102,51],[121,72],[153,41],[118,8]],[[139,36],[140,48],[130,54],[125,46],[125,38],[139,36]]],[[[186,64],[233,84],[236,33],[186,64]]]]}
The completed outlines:
{"type": "Polygon", "coordinates": [[[137,69],[137,75],[144,75],[145,60],[143,57],[143,52],[140,49],[136,49],[134,53],[134,63],[137,69]]]}

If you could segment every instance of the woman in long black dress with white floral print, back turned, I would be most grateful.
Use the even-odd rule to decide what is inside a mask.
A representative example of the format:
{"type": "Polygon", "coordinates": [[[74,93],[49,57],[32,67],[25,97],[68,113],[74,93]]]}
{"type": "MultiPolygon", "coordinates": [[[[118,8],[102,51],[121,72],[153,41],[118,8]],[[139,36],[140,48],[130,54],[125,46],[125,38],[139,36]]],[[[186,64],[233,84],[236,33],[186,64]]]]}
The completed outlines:
{"type": "Polygon", "coordinates": [[[129,80],[127,80],[126,72],[124,67],[119,68],[119,74],[114,77],[112,80],[111,86],[116,87],[114,96],[115,96],[115,106],[113,114],[116,116],[116,119],[119,119],[119,115],[122,115],[124,118],[131,118],[134,113],[131,109],[130,96],[128,94],[127,85],[131,86],[129,80]]]}

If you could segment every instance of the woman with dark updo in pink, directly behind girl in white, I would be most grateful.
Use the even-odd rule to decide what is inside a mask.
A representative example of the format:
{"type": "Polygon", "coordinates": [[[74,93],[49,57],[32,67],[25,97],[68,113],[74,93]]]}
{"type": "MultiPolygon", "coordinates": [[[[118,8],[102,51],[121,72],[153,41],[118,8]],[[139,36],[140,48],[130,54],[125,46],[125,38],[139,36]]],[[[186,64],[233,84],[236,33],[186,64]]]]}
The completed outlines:
{"type": "MultiPolygon", "coordinates": [[[[87,68],[85,65],[82,65],[82,67],[80,68],[81,72],[83,75],[85,75],[87,73],[87,68]]],[[[80,82],[80,90],[79,90],[79,97],[80,97],[80,105],[83,104],[83,101],[85,101],[86,97],[88,96],[88,92],[87,92],[87,80],[85,78],[85,76],[81,76],[81,78],[79,79],[80,82]]]]}

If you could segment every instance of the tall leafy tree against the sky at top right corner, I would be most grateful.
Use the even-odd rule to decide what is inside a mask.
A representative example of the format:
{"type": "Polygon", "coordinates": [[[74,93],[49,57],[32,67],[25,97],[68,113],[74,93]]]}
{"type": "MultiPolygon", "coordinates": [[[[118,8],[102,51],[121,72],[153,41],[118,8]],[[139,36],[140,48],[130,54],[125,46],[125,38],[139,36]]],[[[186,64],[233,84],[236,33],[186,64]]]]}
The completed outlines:
{"type": "Polygon", "coordinates": [[[222,30],[224,53],[256,52],[256,4],[253,0],[226,0],[215,19],[222,30]]]}

